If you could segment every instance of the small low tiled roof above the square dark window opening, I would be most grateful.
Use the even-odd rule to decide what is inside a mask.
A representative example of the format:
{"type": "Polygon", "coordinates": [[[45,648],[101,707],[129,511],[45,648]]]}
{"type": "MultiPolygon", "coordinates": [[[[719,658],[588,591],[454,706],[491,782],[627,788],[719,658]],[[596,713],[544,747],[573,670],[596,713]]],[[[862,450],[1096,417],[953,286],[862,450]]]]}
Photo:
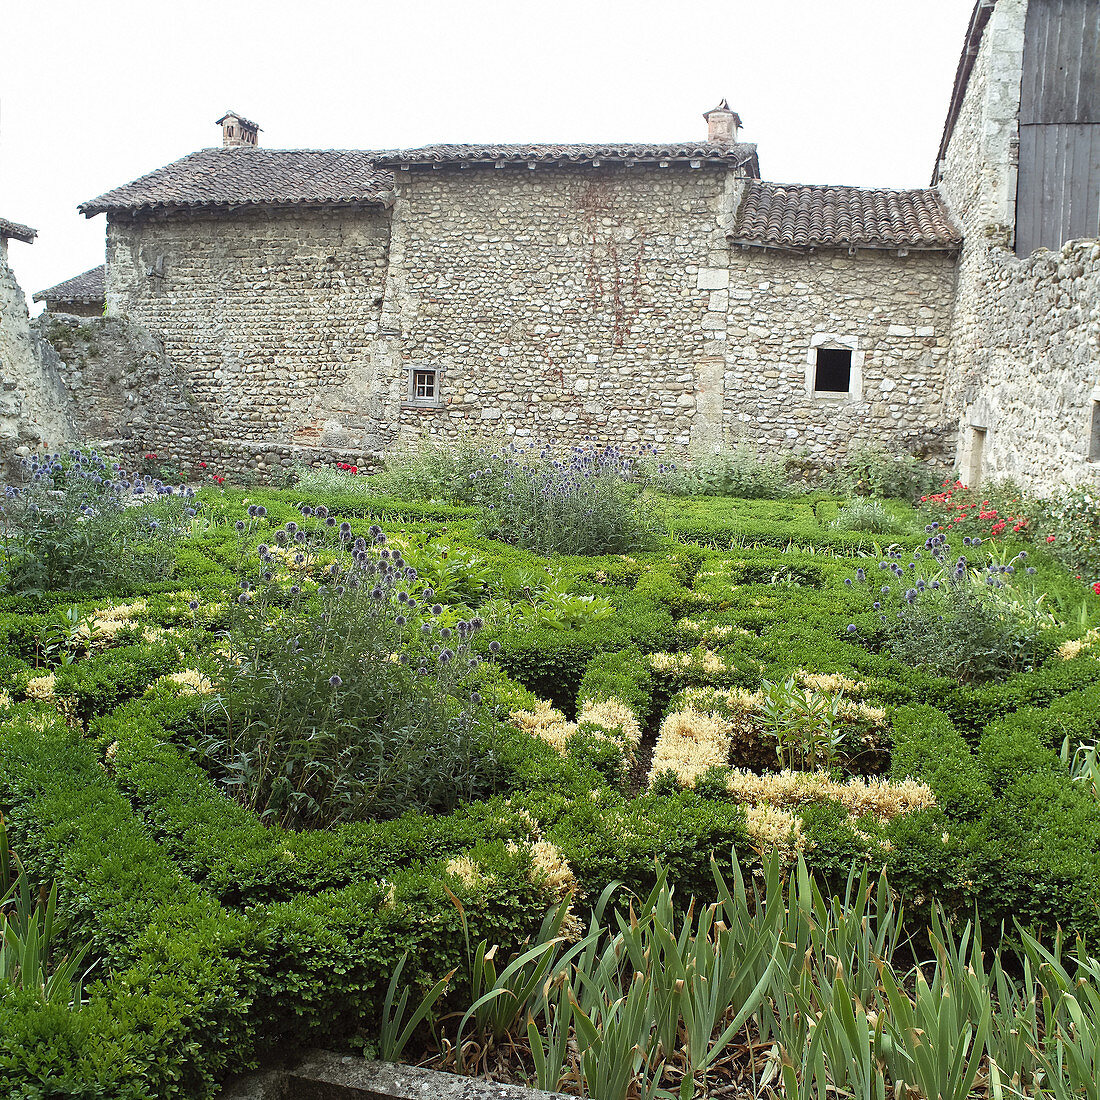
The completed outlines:
{"type": "Polygon", "coordinates": [[[729,231],[778,249],[956,249],[963,238],[939,193],[772,184],[751,179],[729,231]]]}

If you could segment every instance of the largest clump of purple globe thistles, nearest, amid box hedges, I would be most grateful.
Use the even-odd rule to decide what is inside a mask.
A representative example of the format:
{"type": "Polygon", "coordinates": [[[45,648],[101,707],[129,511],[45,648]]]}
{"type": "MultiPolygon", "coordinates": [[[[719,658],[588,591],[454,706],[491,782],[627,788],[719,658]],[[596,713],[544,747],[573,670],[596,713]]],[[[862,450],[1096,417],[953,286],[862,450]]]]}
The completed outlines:
{"type": "Polygon", "coordinates": [[[301,515],[311,526],[276,531],[256,580],[242,581],[212,728],[195,746],[206,766],[262,821],[298,827],[446,811],[491,792],[494,723],[471,650],[482,622],[440,626],[435,593],[409,595],[416,571],[377,526],[352,539],[323,507],[301,515]],[[280,554],[309,569],[322,552],[334,560],[315,606],[275,570],[280,554]]]}

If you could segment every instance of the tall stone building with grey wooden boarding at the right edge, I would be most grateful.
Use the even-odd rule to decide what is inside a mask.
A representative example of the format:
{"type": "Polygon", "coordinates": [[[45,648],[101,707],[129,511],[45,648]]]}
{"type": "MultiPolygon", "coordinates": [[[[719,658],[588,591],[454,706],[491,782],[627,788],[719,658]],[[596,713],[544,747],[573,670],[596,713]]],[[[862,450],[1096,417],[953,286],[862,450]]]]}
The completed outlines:
{"type": "Polygon", "coordinates": [[[964,480],[1097,480],[1100,4],[980,0],[933,183],[965,234],[946,392],[964,480]]]}

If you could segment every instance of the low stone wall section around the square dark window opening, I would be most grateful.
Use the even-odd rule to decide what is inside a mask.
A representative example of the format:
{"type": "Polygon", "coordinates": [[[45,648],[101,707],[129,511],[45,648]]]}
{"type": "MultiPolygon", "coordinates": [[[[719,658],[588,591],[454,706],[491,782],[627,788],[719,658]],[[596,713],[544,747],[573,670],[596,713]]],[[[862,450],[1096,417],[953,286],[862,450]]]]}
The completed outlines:
{"type": "Polygon", "coordinates": [[[736,249],[726,326],[727,440],[834,459],[851,442],[941,458],[955,286],[944,252],[806,256],[736,249]],[[848,395],[813,392],[815,344],[853,350],[848,395]]]}

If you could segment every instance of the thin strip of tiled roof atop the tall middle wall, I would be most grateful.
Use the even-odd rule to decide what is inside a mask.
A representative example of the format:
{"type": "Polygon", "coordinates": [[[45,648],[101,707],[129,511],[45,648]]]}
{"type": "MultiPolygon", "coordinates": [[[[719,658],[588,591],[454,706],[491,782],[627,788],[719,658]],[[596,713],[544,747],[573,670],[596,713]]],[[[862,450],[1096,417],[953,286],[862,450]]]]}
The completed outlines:
{"type": "Polygon", "coordinates": [[[592,161],[705,161],[733,166],[745,165],[749,175],[759,175],[756,145],[711,145],[685,142],[672,145],[425,145],[378,154],[377,163],[389,167],[435,164],[581,164],[592,161]]]}

